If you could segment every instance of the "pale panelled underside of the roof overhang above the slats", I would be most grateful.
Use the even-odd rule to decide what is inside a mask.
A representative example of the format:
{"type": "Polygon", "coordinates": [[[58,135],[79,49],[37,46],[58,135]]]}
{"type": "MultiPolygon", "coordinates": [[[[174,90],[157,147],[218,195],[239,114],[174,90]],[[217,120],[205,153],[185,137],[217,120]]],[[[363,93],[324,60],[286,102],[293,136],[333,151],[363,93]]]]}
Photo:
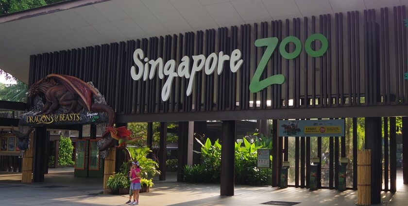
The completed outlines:
{"type": "Polygon", "coordinates": [[[408,0],[70,0],[0,16],[0,69],[28,83],[33,54],[406,3],[408,0]]]}

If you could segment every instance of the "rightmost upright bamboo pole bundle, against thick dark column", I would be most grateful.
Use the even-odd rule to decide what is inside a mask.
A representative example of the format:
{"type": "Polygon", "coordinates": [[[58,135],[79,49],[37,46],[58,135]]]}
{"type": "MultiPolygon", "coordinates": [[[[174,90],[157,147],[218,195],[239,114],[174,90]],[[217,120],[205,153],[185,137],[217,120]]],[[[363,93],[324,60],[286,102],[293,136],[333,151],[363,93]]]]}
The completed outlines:
{"type": "Polygon", "coordinates": [[[357,153],[357,205],[371,205],[371,150],[357,153]]]}

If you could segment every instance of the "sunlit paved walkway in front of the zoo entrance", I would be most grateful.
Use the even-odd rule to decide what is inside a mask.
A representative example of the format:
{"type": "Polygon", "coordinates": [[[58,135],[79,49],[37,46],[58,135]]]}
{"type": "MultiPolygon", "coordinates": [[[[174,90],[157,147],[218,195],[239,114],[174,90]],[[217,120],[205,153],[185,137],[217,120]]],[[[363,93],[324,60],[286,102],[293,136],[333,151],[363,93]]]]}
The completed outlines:
{"type": "MultiPolygon", "coordinates": [[[[129,197],[102,194],[100,178],[74,177],[70,168],[50,169],[43,183],[22,184],[20,174],[9,175],[0,174],[1,206],[120,206],[129,197]]],[[[241,185],[235,187],[235,196],[221,197],[219,185],[178,183],[175,174],[168,176],[167,181],[155,181],[150,193],[140,194],[141,206],[266,206],[262,203],[270,201],[299,203],[296,206],[354,206],[357,201],[357,191],[353,190],[278,190],[241,185]]],[[[390,192],[383,193],[381,205],[406,206],[407,192],[405,185],[393,196],[390,192]]]]}

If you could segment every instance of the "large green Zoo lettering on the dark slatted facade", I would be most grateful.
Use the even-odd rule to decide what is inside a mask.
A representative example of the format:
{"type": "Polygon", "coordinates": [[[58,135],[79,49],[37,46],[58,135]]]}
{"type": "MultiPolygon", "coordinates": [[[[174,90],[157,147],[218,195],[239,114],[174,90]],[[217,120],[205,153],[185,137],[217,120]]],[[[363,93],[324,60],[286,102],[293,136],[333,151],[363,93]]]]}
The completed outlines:
{"type": "MultiPolygon", "coordinates": [[[[260,80],[261,75],[268,64],[269,60],[271,59],[272,53],[275,50],[276,46],[278,45],[279,39],[276,37],[269,37],[269,38],[264,38],[264,39],[257,39],[255,41],[255,46],[256,47],[265,47],[265,52],[261,58],[261,61],[259,62],[258,66],[256,67],[254,77],[251,80],[251,83],[249,85],[249,91],[252,93],[259,92],[269,85],[272,84],[283,84],[285,82],[285,76],[282,74],[277,74],[277,75],[272,75],[271,77],[268,77],[266,79],[260,80]]],[[[328,41],[323,34],[320,33],[314,33],[310,35],[305,42],[305,51],[308,55],[311,57],[320,57],[322,56],[328,48],[328,41]],[[322,47],[315,51],[311,48],[311,43],[314,40],[319,40],[322,43],[322,47]]],[[[282,40],[280,46],[279,46],[279,52],[282,55],[283,58],[285,59],[294,59],[299,56],[300,52],[302,51],[302,43],[300,42],[299,38],[296,36],[288,36],[285,39],[282,40]],[[292,42],[295,44],[295,50],[291,53],[286,51],[286,45],[289,44],[289,42],[292,42]]]]}

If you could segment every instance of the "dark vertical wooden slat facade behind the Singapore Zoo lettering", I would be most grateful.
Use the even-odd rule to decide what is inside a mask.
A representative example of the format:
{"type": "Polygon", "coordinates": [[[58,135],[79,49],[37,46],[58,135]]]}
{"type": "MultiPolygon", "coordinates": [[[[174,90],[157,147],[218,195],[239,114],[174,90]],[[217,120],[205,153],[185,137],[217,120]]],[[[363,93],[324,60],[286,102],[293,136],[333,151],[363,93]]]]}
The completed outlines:
{"type": "MultiPolygon", "coordinates": [[[[138,114],[188,112],[190,115],[209,111],[408,105],[408,83],[403,79],[408,71],[405,16],[405,6],[398,6],[244,24],[32,55],[29,85],[51,73],[92,81],[117,115],[127,115],[129,121],[145,121],[138,114]],[[307,37],[316,32],[322,33],[329,41],[327,52],[318,58],[309,56],[304,49],[307,37]],[[278,45],[261,76],[283,74],[285,83],[251,93],[249,84],[265,51],[265,47],[255,47],[255,40],[278,37],[281,42],[287,36],[302,40],[301,54],[287,60],[282,58],[278,45]],[[364,47],[364,44],[372,44],[371,39],[377,36],[379,45],[364,47]],[[374,71],[369,59],[375,58],[372,50],[378,47],[380,64],[379,70],[374,71]],[[190,96],[186,95],[188,79],[177,77],[169,100],[164,102],[161,91],[167,77],[159,79],[156,74],[154,79],[147,81],[131,78],[130,67],[134,65],[136,48],[141,48],[149,60],[162,57],[166,62],[174,59],[176,65],[185,55],[204,54],[208,57],[210,53],[220,51],[230,55],[238,48],[244,62],[237,73],[229,70],[229,61],[224,62],[221,75],[207,76],[203,71],[197,72],[190,96]]],[[[319,49],[321,43],[315,41],[311,47],[319,49]]],[[[286,49],[292,52],[293,44],[288,44],[286,49]]],[[[190,71],[191,67],[190,58],[190,71]]],[[[194,115],[190,116],[190,120],[194,120],[194,115]]],[[[155,121],[165,121],[156,117],[155,121]]],[[[229,114],[228,118],[233,117],[234,114],[229,114]]],[[[337,117],[342,117],[340,111],[337,117]]],[[[121,120],[124,121],[119,118],[121,120]]]]}

